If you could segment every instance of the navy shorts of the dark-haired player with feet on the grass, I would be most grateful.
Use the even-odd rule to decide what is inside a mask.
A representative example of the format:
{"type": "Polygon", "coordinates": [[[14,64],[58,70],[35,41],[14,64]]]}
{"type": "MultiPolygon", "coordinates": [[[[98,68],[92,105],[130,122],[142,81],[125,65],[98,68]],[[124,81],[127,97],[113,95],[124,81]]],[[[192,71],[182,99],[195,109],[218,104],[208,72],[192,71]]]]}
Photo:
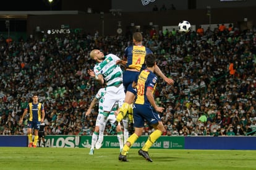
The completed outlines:
{"type": "Polygon", "coordinates": [[[145,104],[134,104],[134,127],[144,127],[144,120],[150,125],[161,121],[160,115],[151,106],[145,104]]]}

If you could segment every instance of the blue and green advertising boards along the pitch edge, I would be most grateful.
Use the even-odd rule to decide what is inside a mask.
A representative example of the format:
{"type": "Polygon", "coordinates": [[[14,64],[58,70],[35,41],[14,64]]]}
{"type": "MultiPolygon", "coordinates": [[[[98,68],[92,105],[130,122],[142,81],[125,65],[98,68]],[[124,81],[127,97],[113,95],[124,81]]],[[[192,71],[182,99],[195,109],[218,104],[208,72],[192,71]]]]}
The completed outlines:
{"type": "MultiPolygon", "coordinates": [[[[140,137],[133,148],[141,148],[147,136],[140,137]]],[[[54,148],[90,148],[92,136],[47,135],[46,147],[54,148]]],[[[27,136],[1,135],[0,147],[27,147],[27,136]]],[[[102,148],[119,148],[116,135],[105,136],[102,148]]],[[[186,150],[256,150],[256,136],[223,136],[223,137],[183,137],[162,136],[151,148],[155,149],[186,149],[186,150]]]]}

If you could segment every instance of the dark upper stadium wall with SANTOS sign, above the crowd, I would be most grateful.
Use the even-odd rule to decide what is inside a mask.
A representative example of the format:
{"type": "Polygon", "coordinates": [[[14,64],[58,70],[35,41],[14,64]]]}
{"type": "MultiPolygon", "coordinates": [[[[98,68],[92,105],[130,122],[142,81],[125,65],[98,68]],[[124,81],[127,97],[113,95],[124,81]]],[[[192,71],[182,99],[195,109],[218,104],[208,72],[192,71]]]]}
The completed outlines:
{"type": "MultiPolygon", "coordinates": [[[[62,25],[74,30],[81,28],[85,33],[94,35],[98,30],[99,35],[116,35],[117,28],[122,28],[122,34],[134,32],[137,26],[140,32],[149,33],[152,26],[163,28],[163,26],[177,25],[181,20],[188,20],[192,25],[202,25],[211,23],[234,23],[235,27],[246,25],[251,28],[255,25],[256,7],[232,8],[232,9],[212,9],[211,21],[205,9],[157,11],[157,12],[122,12],[121,15],[105,14],[66,14],[66,15],[28,15],[27,35],[35,35],[38,32],[47,33],[48,30],[59,30],[59,34],[67,31],[61,30],[62,25]],[[139,17],[138,17],[139,16],[139,17]],[[244,22],[244,19],[247,22],[244,22]],[[251,23],[249,25],[249,23],[251,23]],[[134,25],[134,26],[132,26],[134,25]]],[[[217,27],[217,25],[211,25],[217,27]]],[[[247,28],[246,27],[246,28],[247,28]]]]}

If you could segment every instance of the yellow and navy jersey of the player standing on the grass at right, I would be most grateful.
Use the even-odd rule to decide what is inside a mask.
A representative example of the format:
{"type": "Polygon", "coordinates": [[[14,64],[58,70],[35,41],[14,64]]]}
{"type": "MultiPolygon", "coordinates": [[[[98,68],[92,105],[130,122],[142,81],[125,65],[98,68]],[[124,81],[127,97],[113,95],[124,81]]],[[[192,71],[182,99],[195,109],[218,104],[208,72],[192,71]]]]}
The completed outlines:
{"type": "Polygon", "coordinates": [[[142,72],[140,72],[140,75],[137,80],[137,96],[135,100],[136,104],[151,105],[146,95],[147,88],[152,88],[154,93],[156,88],[156,82],[157,82],[157,77],[150,70],[145,69],[145,70],[142,70],[142,72]]]}

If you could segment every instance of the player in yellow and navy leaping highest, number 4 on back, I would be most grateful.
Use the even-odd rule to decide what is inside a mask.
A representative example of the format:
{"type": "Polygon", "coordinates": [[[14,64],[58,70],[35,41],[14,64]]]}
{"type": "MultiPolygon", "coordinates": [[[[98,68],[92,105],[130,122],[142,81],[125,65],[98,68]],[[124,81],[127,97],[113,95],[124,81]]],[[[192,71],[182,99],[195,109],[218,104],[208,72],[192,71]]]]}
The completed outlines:
{"type": "MultiPolygon", "coordinates": [[[[152,51],[149,48],[142,45],[142,40],[142,33],[135,32],[133,35],[134,45],[128,46],[124,51],[124,59],[117,62],[117,64],[122,64],[126,67],[123,76],[126,98],[124,99],[124,104],[122,104],[119,109],[115,124],[118,124],[124,117],[126,117],[127,113],[129,113],[129,121],[132,121],[132,103],[134,102],[137,93],[136,89],[132,88],[132,82],[138,77],[140,71],[145,69],[145,56],[147,54],[152,54],[152,51]]],[[[164,79],[168,85],[174,83],[174,80],[166,77],[157,65],[154,67],[154,72],[164,79]]]]}

